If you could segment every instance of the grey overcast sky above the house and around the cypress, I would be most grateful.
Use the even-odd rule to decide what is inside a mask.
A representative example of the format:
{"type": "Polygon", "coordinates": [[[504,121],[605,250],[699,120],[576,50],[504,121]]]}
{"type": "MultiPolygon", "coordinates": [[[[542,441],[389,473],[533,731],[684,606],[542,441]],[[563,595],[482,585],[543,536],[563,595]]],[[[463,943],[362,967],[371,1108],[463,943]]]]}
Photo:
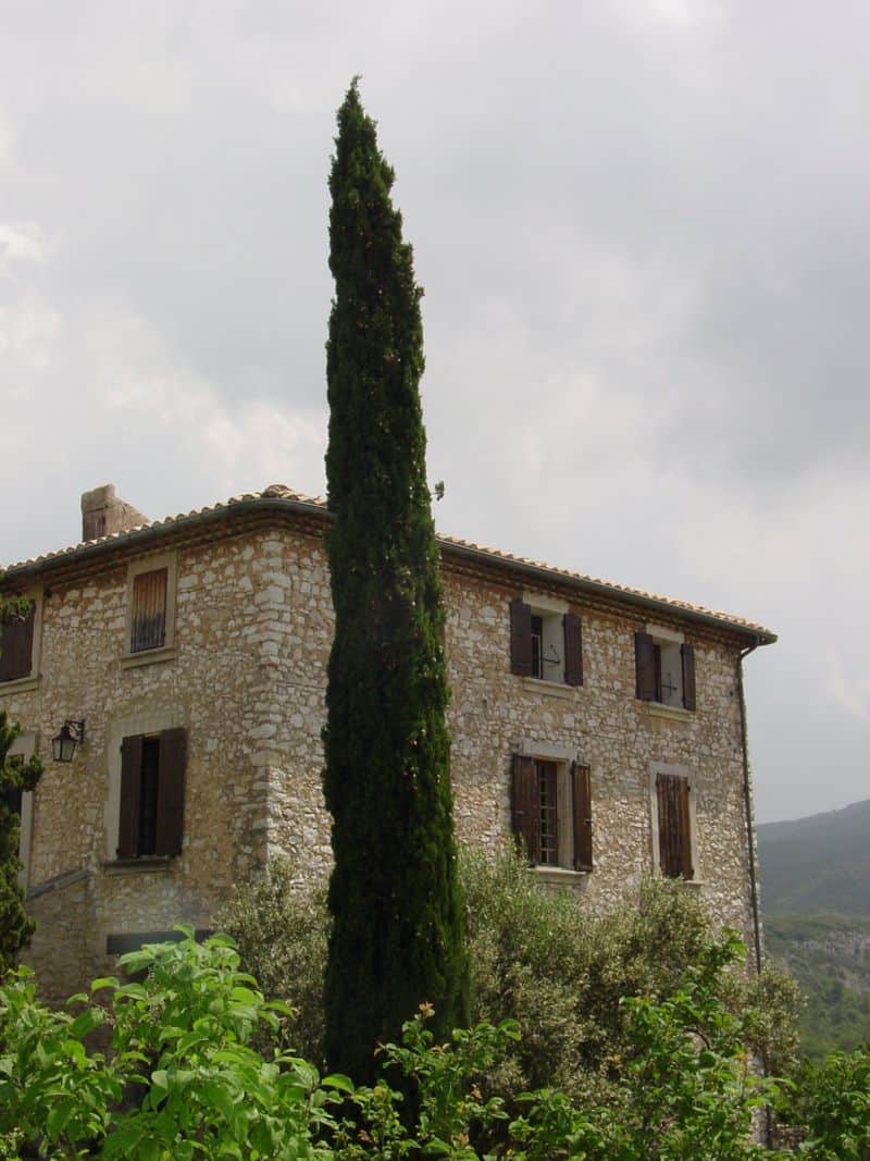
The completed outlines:
{"type": "Polygon", "coordinates": [[[441,531],[761,621],[759,817],[870,798],[864,0],[0,0],[0,561],[322,492],[354,73],[441,531]]]}

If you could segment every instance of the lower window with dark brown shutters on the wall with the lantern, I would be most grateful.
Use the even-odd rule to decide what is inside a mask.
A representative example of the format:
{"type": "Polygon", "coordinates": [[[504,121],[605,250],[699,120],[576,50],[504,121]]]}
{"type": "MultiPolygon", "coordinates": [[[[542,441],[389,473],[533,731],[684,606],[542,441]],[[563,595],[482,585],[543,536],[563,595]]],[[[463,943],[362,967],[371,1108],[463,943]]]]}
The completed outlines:
{"type": "Polygon", "coordinates": [[[117,857],[181,853],[184,834],[187,730],[133,734],[121,747],[117,857]]]}

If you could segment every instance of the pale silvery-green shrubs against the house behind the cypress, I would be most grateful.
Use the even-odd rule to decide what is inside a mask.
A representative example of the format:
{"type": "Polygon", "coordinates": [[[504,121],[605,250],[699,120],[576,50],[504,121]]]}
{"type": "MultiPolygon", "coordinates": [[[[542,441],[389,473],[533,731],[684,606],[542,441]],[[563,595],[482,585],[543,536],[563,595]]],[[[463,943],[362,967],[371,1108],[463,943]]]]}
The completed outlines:
{"type": "MultiPolygon", "coordinates": [[[[462,852],[467,903],[472,1019],[523,1030],[493,1065],[487,1083],[507,1097],[553,1088],[582,1103],[608,1098],[626,1050],[626,996],[673,995],[686,966],[713,942],[715,925],[695,892],[648,879],[635,907],[593,915],[573,894],[550,890],[513,851],[462,852]]],[[[298,1016],[289,1045],[320,1060],[327,916],[288,864],[239,888],[219,917],[245,968],[267,995],[298,1016]]],[[[784,1072],[796,1050],[800,997],[776,969],[720,973],[720,995],[741,1021],[749,1052],[784,1072]]],[[[283,1045],[284,1047],[288,1044],[283,1045]]],[[[612,1094],[611,1094],[612,1095],[612,1094]]]]}

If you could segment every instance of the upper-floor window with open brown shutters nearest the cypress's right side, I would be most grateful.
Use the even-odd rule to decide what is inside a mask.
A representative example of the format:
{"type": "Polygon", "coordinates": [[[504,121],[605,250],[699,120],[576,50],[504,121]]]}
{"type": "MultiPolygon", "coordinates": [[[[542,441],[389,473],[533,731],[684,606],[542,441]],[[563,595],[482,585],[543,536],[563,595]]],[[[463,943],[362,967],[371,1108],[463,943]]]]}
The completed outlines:
{"type": "MultiPolygon", "coordinates": [[[[561,601],[548,604],[563,608],[561,601]]],[[[557,612],[543,603],[536,606],[521,597],[512,600],[510,672],[542,682],[582,685],[583,652],[578,614],[557,612]]]]}

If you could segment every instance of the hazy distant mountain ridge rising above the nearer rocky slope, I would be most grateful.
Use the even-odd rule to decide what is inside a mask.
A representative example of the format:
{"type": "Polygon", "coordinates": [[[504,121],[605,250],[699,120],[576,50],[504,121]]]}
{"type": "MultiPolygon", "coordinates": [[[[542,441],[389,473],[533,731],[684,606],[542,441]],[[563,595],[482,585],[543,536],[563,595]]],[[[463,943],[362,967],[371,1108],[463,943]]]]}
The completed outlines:
{"type": "Polygon", "coordinates": [[[870,800],[759,827],[766,916],[870,917],[870,800]]]}

